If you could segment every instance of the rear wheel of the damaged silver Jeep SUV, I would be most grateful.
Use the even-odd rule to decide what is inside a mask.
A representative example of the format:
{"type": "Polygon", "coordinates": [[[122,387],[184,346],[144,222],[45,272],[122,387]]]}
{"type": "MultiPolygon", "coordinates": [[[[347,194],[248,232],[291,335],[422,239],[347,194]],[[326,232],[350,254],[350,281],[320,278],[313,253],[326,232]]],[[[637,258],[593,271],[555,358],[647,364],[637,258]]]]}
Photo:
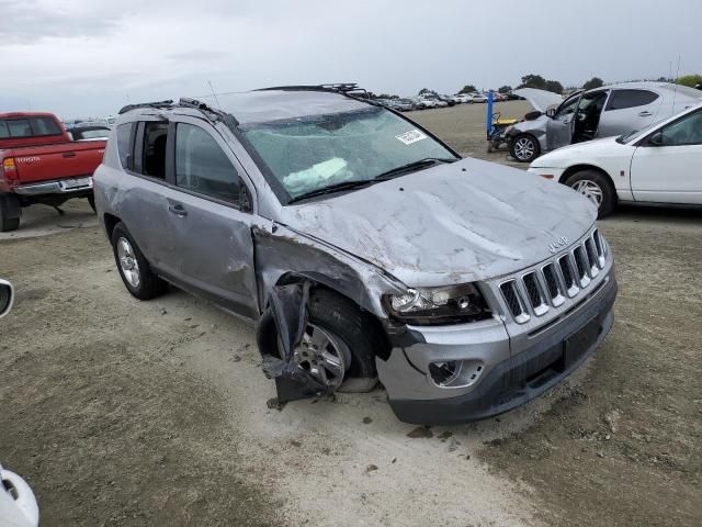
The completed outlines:
{"type": "Polygon", "coordinates": [[[166,292],[168,283],[151,271],[149,262],[122,222],[112,231],[112,250],[122,281],[134,298],[150,300],[166,292]],[[121,257],[124,261],[121,261],[121,257]]]}

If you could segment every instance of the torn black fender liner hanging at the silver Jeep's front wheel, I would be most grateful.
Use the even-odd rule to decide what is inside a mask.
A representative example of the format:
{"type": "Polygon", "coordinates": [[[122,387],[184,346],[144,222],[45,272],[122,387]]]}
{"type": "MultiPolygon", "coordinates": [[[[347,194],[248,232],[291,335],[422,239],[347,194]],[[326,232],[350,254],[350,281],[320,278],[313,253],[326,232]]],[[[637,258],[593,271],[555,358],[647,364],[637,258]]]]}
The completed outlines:
{"type": "MultiPolygon", "coordinates": [[[[262,338],[262,335],[258,336],[259,349],[263,357],[263,373],[269,379],[275,380],[279,407],[288,401],[329,394],[333,391],[331,386],[319,382],[293,360],[294,350],[302,341],[307,327],[310,287],[309,281],[279,285],[273,288],[269,295],[269,310],[278,329],[280,357],[273,355],[274,349],[264,349],[261,345],[270,339],[262,338]]],[[[270,325],[260,324],[258,330],[270,330],[270,325]]]]}

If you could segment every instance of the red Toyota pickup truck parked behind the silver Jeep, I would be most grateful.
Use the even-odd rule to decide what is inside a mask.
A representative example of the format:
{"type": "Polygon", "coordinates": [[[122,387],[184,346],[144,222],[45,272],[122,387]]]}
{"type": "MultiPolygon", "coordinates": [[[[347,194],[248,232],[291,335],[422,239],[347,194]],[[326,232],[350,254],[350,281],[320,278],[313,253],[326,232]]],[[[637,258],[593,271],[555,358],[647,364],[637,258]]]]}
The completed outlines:
{"type": "Polygon", "coordinates": [[[0,232],[20,226],[23,206],[55,208],[87,198],[94,209],[92,173],[104,141],[72,141],[52,113],[0,113],[0,232]]]}

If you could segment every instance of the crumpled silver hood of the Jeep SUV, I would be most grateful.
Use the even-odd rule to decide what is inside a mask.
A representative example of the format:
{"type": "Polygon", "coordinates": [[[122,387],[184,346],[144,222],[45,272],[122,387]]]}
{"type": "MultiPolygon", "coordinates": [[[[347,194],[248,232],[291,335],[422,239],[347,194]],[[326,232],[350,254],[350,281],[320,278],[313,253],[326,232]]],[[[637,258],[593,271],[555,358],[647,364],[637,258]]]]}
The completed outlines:
{"type": "Polygon", "coordinates": [[[562,184],[477,159],[284,206],[290,227],[384,269],[409,287],[490,279],[575,242],[595,206],[562,184]]]}

